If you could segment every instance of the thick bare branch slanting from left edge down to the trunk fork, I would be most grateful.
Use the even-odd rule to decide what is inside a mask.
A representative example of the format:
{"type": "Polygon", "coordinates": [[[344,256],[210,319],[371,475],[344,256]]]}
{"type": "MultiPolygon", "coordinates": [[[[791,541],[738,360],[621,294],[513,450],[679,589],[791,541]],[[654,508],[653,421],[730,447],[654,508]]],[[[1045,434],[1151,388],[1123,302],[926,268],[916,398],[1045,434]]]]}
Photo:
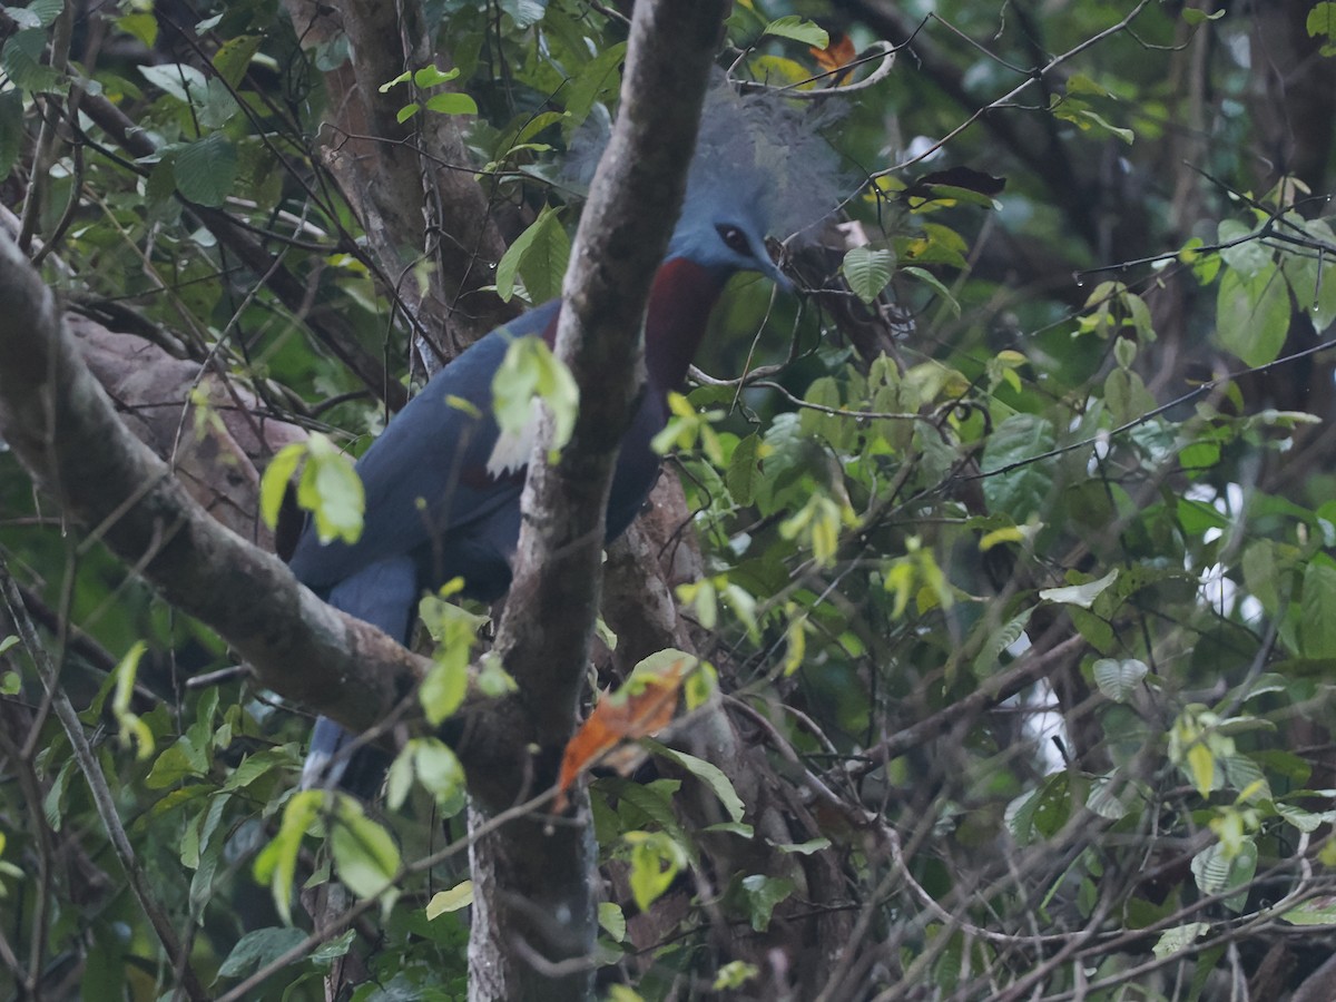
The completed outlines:
{"type": "Polygon", "coordinates": [[[279,695],[365,729],[411,692],[424,659],[218,525],[118,420],[53,297],[3,231],[0,317],[0,438],[68,518],[218,631],[279,695]]]}

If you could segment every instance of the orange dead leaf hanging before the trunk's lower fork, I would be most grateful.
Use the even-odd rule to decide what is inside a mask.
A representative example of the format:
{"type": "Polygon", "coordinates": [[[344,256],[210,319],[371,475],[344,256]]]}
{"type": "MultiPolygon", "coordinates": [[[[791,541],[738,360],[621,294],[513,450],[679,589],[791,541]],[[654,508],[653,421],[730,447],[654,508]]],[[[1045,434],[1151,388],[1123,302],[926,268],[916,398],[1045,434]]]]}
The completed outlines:
{"type": "Polygon", "coordinates": [[[581,772],[605,758],[621,741],[648,737],[668,725],[677,712],[683,676],[693,664],[679,659],[657,675],[633,675],[620,692],[604,695],[580,725],[561,756],[557,811],[566,808],[566,791],[581,772]]]}

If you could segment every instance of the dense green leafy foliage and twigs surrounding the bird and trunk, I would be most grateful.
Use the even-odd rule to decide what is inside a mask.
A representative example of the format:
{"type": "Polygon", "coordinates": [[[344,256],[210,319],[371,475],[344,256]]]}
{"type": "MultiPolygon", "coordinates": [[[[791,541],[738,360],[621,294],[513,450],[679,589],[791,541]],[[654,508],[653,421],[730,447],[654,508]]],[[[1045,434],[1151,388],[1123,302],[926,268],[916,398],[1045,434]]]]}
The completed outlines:
{"type": "MultiPolygon", "coordinates": [[[[127,421],[270,545],[257,469],[298,429],[357,453],[405,377],[560,289],[554,182],[616,95],[620,13],[445,0],[381,39],[440,67],[383,100],[482,196],[496,230],[464,240],[421,191],[403,222],[350,186],[395,155],[341,118],[367,37],[261,3],[5,8],[4,223],[127,421]]],[[[684,493],[609,557],[680,585],[672,639],[717,671],[743,752],[593,783],[600,993],[1329,998],[1336,5],[739,1],[721,64],[822,72],[790,15],[899,52],[827,128],[847,215],[796,253],[804,295],[729,290],[676,425],[684,493]]],[[[466,912],[434,898],[458,851],[246,983],[322,939],[253,872],[309,721],[0,469],[25,609],[0,629],[23,637],[0,653],[7,995],[187,997],[188,967],[206,995],[462,998],[466,912]]],[[[668,645],[607,617],[605,680],[668,645]]],[[[460,834],[456,779],[417,779],[389,855],[345,867],[460,834]]],[[[302,843],[298,884],[326,850],[302,843]]]]}

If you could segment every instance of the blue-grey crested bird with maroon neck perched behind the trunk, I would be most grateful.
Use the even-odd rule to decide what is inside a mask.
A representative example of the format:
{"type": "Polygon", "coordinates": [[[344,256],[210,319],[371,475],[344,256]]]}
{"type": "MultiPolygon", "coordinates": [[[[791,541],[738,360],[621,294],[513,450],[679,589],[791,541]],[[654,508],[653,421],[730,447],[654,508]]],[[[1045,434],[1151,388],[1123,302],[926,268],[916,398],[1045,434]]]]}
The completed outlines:
{"type": "MultiPolygon", "coordinates": [[[[645,313],[647,386],[619,452],[607,509],[607,541],[640,512],[659,476],[653,437],[679,389],[728,279],[740,271],[792,286],[768,236],[811,227],[834,208],[832,151],[787,103],[741,96],[727,84],[707,95],[679,220],[645,313]]],[[[330,605],[402,644],[421,595],[456,577],[460,595],[485,603],[510,585],[520,536],[528,449],[502,437],[492,381],[514,338],[553,342],[561,301],[493,330],[444,366],[358,460],[365,516],[355,542],[321,541],[307,520],[289,566],[330,605]]],[[[369,799],[383,756],[358,748],[329,717],[315,723],[301,784],[369,799]],[[350,767],[350,762],[361,762],[350,767]]]]}

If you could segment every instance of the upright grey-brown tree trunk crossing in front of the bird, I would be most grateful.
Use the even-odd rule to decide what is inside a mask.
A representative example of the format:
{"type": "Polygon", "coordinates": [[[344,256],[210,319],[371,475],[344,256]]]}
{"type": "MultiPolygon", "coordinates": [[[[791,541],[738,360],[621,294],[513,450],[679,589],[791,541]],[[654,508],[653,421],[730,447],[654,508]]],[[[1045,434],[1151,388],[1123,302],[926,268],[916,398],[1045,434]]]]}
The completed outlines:
{"type": "Polygon", "coordinates": [[[727,0],[636,4],[617,126],[576,236],[557,354],[580,386],[580,417],[556,466],[545,461],[550,428],[529,462],[514,584],[496,645],[520,695],[489,721],[517,724],[492,741],[537,751],[529,768],[509,776],[470,771],[474,900],[482,902],[469,946],[476,1002],[581,999],[591,990],[597,922],[584,798],[560,818],[478,830],[520,798],[521,780],[534,791],[552,784],[574,728],[599,609],[608,488],[644,371],[639,330],[685,192],[727,9],[727,0]]]}

